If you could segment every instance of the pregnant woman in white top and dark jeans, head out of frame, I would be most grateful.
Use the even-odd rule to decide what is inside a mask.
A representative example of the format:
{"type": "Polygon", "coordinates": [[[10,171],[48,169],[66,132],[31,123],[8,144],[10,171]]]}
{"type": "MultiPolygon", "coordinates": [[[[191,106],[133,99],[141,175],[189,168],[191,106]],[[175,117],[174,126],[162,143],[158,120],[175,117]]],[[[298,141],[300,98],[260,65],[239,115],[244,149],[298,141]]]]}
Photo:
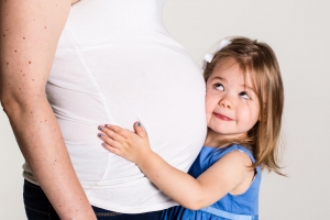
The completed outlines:
{"type": "Polygon", "coordinates": [[[26,161],[28,218],[156,219],[143,215],[176,204],[96,129],[143,121],[186,172],[206,135],[201,73],[166,31],[165,0],[73,3],[1,0],[1,105],[26,161]]]}

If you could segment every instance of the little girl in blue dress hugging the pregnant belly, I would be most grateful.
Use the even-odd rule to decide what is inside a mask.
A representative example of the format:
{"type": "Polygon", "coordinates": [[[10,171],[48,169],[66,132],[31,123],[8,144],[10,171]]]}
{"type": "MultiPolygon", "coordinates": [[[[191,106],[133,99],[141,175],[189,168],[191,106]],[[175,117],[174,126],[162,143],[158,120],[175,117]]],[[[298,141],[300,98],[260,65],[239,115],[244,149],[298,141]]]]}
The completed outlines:
{"type": "Polygon", "coordinates": [[[280,174],[284,91],[276,56],[265,43],[237,37],[222,40],[205,59],[208,134],[188,174],[151,150],[141,122],[135,133],[99,127],[99,138],[180,205],[165,210],[163,219],[255,220],[261,169],[280,174]]]}

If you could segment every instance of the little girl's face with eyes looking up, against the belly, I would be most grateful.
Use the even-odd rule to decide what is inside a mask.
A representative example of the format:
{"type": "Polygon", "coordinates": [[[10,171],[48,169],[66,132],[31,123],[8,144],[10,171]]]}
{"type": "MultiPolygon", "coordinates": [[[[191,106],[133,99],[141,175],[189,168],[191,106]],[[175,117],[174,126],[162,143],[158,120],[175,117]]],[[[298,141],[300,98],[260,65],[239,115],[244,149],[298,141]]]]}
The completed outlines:
{"type": "Polygon", "coordinates": [[[232,58],[218,62],[206,85],[209,132],[217,140],[246,135],[260,118],[260,106],[250,74],[243,75],[232,58]]]}

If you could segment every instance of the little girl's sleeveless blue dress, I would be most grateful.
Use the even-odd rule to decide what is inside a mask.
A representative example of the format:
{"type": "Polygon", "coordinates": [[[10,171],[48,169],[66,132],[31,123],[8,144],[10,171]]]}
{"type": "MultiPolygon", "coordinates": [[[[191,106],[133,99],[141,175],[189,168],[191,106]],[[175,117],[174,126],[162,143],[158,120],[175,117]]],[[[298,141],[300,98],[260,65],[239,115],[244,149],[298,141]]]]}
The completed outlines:
{"type": "MultiPolygon", "coordinates": [[[[197,178],[206,169],[212,166],[226,154],[232,151],[246,153],[251,161],[255,163],[251,152],[241,145],[231,145],[223,148],[204,146],[191,165],[188,174],[197,178]]],[[[255,177],[249,189],[241,195],[227,194],[216,204],[199,210],[186,209],[182,206],[172,207],[164,210],[163,220],[257,220],[258,217],[258,189],[262,172],[255,168],[255,177]]]]}

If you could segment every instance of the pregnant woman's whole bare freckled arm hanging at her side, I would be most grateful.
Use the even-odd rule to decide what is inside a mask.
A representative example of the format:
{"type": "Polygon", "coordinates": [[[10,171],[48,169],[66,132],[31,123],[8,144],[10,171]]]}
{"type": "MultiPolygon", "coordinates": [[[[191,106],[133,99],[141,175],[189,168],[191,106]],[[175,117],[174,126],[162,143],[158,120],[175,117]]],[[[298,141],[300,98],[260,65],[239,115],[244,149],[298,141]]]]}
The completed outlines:
{"type": "Polygon", "coordinates": [[[96,219],[45,95],[72,2],[0,2],[0,100],[19,146],[61,219],[96,219]]]}

